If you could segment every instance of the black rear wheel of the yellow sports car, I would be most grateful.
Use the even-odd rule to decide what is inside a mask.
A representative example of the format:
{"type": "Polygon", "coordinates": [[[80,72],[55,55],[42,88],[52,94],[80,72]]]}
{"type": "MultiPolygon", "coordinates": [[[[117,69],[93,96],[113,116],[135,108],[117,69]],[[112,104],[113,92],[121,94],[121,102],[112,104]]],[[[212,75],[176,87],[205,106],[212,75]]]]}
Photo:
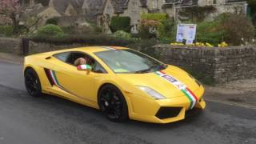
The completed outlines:
{"type": "Polygon", "coordinates": [[[31,68],[27,69],[24,74],[26,91],[33,97],[42,95],[42,87],[38,74],[31,68]]]}

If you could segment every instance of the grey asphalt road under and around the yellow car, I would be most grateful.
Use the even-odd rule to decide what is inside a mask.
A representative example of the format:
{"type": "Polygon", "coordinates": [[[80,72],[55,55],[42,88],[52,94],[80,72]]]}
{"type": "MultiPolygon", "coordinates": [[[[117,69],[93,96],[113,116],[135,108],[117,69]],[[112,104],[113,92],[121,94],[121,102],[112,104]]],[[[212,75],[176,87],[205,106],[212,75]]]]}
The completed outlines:
{"type": "Polygon", "coordinates": [[[256,109],[207,102],[206,110],[167,125],[109,122],[98,110],[54,96],[31,98],[22,66],[0,62],[0,144],[256,144],[256,109]]]}

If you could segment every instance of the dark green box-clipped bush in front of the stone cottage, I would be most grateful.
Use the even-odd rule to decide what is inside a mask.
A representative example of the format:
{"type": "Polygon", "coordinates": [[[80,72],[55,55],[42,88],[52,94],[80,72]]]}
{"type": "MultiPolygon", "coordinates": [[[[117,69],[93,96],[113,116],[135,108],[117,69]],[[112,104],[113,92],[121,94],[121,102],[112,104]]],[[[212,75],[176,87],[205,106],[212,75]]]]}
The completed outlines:
{"type": "Polygon", "coordinates": [[[130,33],[130,17],[112,17],[110,22],[110,30],[113,33],[118,30],[123,30],[130,33]]]}

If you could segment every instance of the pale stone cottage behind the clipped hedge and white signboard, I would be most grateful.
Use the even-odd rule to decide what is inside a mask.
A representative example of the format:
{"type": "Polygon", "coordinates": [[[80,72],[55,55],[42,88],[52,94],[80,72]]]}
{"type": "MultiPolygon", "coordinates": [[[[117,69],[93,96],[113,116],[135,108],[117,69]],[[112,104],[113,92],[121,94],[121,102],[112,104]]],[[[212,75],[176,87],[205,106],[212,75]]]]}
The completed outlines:
{"type": "Polygon", "coordinates": [[[97,14],[97,24],[110,33],[111,17],[128,16],[131,32],[138,33],[142,13],[166,13],[174,21],[182,22],[193,18],[190,10],[195,7],[206,11],[199,14],[204,19],[212,20],[224,12],[246,13],[246,6],[246,0],[105,0],[97,14]]]}

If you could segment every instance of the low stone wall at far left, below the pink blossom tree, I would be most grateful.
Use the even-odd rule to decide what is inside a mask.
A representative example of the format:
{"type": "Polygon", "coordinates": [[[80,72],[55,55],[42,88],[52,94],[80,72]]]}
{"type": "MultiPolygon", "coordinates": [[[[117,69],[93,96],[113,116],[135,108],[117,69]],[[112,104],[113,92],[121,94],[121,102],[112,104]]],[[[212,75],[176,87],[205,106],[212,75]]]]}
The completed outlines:
{"type": "Polygon", "coordinates": [[[0,52],[22,54],[22,39],[0,38],[0,52]]]}

